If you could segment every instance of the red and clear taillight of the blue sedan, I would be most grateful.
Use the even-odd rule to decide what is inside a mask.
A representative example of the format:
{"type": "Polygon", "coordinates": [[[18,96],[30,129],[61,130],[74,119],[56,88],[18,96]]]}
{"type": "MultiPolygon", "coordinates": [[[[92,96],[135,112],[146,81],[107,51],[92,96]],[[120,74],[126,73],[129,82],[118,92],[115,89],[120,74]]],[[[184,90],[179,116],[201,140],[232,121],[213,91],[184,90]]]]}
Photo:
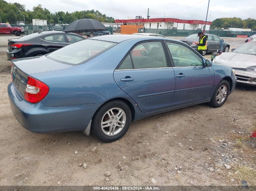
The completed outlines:
{"type": "Polygon", "coordinates": [[[49,87],[45,83],[28,76],[28,82],[24,93],[25,100],[30,103],[38,103],[45,98],[48,92],[49,87]]]}

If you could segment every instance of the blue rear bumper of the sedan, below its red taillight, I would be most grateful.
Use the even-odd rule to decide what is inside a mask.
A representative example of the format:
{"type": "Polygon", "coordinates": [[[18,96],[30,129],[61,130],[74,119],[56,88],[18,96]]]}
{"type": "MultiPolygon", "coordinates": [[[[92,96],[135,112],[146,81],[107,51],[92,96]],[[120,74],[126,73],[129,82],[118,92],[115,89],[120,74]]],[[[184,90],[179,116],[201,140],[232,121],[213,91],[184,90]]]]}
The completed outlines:
{"type": "Polygon", "coordinates": [[[82,131],[88,126],[101,103],[63,107],[46,107],[23,100],[13,83],[8,85],[8,98],[12,113],[18,122],[31,132],[50,133],[82,131]]]}

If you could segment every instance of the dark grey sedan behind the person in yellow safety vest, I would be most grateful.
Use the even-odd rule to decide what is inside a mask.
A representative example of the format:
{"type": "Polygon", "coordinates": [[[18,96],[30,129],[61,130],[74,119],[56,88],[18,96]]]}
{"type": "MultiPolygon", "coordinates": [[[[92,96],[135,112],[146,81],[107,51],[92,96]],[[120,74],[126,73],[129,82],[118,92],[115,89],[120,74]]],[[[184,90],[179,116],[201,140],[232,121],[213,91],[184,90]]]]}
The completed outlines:
{"type": "MultiPolygon", "coordinates": [[[[203,55],[205,55],[206,53],[213,53],[216,52],[216,50],[218,49],[218,47],[221,46],[221,39],[214,34],[205,34],[206,36],[208,36],[207,39],[207,51],[203,51],[203,55]]],[[[186,37],[185,39],[181,39],[181,42],[184,42],[186,44],[188,44],[189,46],[191,46],[193,49],[197,50],[198,45],[192,44],[193,42],[198,42],[199,37],[197,36],[197,34],[191,34],[188,37],[186,37]]],[[[223,50],[222,52],[227,53],[229,51],[230,48],[230,44],[228,42],[223,42],[223,50]]]]}

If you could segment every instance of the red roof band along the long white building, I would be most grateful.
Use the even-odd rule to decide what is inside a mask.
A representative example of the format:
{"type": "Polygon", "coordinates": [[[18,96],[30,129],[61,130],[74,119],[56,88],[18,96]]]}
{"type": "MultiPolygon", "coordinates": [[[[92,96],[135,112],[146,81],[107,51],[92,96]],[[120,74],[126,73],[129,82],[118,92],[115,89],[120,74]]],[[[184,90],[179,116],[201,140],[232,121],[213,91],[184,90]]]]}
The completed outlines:
{"type": "MultiPolygon", "coordinates": [[[[184,20],[175,18],[152,18],[152,19],[116,19],[115,23],[152,23],[152,22],[175,22],[175,23],[187,23],[187,24],[205,24],[202,20],[184,20]]],[[[212,22],[207,21],[207,25],[211,25],[212,22]]]]}

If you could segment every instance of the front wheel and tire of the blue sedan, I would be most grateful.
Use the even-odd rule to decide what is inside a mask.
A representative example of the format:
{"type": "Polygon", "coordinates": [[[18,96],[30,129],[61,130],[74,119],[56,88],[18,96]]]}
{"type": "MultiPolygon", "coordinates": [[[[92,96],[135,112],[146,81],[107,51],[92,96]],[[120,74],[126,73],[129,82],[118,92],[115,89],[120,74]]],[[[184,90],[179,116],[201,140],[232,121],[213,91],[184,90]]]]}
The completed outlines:
{"type": "Polygon", "coordinates": [[[228,99],[229,94],[229,83],[227,80],[221,80],[215,89],[209,105],[211,107],[221,107],[228,99]]]}

